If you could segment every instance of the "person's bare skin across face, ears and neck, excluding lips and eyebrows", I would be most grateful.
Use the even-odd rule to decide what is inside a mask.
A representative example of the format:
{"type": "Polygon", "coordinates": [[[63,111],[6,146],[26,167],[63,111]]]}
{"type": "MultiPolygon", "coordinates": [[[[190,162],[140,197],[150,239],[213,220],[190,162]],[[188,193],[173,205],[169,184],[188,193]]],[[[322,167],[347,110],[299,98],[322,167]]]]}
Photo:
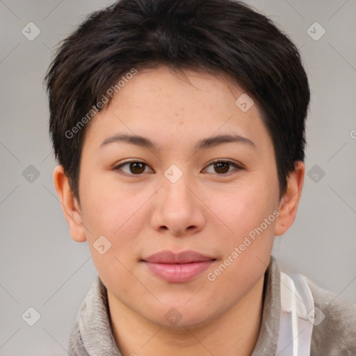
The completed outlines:
{"type": "Polygon", "coordinates": [[[278,199],[273,143],[257,104],[244,113],[235,104],[243,90],[234,83],[200,71],[186,76],[191,83],[167,67],[139,71],[92,119],[81,157],[80,204],[63,168],[54,170],[72,238],[88,241],[108,291],[113,335],[124,356],[251,355],[273,239],[293,224],[302,192],[305,165],[298,162],[278,199]],[[123,142],[100,148],[119,132],[154,140],[159,150],[123,142]],[[255,147],[194,149],[202,138],[232,132],[255,147]],[[131,159],[146,165],[115,170],[131,159]],[[211,164],[216,159],[242,168],[219,170],[211,164]],[[164,175],[172,164],[183,173],[174,184],[164,175]],[[209,281],[207,273],[273,211],[280,213],[273,223],[209,281]],[[111,248],[99,254],[93,243],[102,235],[111,248]],[[190,282],[169,283],[140,261],[162,250],[195,250],[216,261],[190,282]],[[181,315],[176,325],[165,318],[172,307],[181,315]]]}

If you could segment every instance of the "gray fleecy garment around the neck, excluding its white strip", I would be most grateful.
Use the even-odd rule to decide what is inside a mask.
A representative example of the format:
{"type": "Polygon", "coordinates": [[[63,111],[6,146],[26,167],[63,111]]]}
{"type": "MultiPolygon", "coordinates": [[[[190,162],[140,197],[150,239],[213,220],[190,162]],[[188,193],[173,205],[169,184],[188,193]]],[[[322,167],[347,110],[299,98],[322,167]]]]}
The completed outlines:
{"type": "MultiPolygon", "coordinates": [[[[251,356],[274,356],[280,330],[280,267],[270,256],[264,280],[261,328],[251,356]]],[[[307,279],[314,307],[325,319],[313,326],[310,356],[356,356],[356,305],[307,279]]],[[[95,277],[70,334],[70,356],[122,356],[111,330],[106,287],[95,277]]],[[[277,355],[276,355],[277,356],[277,355]]]]}

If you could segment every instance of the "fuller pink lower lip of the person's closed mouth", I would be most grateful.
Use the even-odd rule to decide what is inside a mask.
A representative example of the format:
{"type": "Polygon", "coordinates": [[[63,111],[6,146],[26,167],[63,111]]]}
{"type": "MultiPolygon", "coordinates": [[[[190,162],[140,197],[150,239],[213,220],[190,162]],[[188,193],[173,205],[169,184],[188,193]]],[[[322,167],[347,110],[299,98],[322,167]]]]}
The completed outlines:
{"type": "Polygon", "coordinates": [[[212,263],[213,260],[191,262],[190,264],[154,264],[145,261],[152,273],[171,283],[189,282],[209,268],[212,263]]]}

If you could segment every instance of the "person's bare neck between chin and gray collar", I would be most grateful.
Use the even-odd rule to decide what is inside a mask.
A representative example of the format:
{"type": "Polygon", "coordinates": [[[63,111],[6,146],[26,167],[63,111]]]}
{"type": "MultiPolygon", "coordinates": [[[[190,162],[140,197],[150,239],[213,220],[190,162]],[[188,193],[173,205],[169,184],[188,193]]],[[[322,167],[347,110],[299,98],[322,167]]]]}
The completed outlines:
{"type": "Polygon", "coordinates": [[[122,356],[250,356],[259,336],[264,276],[234,307],[200,327],[168,328],[147,321],[108,292],[113,336],[122,356]]]}

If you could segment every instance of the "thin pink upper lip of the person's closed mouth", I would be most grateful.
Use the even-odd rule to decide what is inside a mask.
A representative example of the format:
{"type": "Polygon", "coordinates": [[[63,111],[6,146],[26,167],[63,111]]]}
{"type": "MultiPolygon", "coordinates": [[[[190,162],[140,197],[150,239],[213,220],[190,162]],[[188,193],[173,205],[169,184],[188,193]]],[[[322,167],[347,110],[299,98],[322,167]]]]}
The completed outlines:
{"type": "Polygon", "coordinates": [[[215,258],[213,257],[205,256],[204,254],[188,250],[178,253],[161,251],[152,254],[151,256],[143,259],[143,261],[152,264],[189,264],[191,262],[210,261],[214,259],[215,258]]]}

